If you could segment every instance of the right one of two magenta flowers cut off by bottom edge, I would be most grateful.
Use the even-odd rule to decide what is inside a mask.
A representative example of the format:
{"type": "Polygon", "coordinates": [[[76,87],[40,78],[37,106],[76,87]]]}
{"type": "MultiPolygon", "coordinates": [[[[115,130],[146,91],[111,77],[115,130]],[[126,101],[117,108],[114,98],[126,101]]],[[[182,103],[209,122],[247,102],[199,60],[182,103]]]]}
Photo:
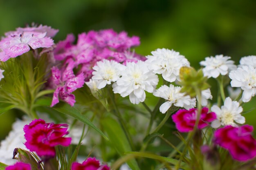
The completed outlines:
{"type": "Polygon", "coordinates": [[[96,158],[88,158],[83,163],[72,163],[71,170],[110,170],[107,165],[100,165],[96,158]]]}

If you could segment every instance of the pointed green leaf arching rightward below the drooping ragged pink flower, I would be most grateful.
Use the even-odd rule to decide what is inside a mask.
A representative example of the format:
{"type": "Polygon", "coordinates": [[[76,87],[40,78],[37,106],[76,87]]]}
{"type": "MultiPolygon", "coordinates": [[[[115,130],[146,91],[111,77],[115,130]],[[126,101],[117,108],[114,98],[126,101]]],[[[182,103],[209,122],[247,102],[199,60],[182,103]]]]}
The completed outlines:
{"type": "Polygon", "coordinates": [[[54,110],[57,110],[60,113],[63,113],[65,115],[69,115],[69,116],[73,117],[74,119],[82,121],[84,124],[87,124],[88,126],[93,128],[94,130],[99,132],[99,134],[101,134],[106,140],[109,140],[108,137],[106,137],[106,135],[99,128],[97,128],[87,117],[85,117],[85,115],[82,115],[81,112],[79,112],[79,110],[77,110],[74,107],[71,107],[69,104],[66,104],[64,102],[60,102],[52,108],[54,110]]]}

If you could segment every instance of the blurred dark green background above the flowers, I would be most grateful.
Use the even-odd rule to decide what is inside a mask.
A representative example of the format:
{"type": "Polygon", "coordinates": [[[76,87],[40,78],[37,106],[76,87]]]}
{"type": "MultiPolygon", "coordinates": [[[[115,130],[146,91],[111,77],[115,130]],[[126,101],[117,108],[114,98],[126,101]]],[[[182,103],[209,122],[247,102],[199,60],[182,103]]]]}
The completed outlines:
{"type": "MultiPolygon", "coordinates": [[[[255,0],[0,0],[0,35],[31,22],[59,29],[55,42],[67,33],[113,28],[139,36],[136,51],[142,55],[168,48],[196,68],[216,54],[229,55],[238,64],[240,57],[256,55],[255,7],[255,0]]],[[[255,114],[245,115],[248,124],[256,124],[255,114]]],[[[0,115],[0,139],[16,115],[0,115]]]]}

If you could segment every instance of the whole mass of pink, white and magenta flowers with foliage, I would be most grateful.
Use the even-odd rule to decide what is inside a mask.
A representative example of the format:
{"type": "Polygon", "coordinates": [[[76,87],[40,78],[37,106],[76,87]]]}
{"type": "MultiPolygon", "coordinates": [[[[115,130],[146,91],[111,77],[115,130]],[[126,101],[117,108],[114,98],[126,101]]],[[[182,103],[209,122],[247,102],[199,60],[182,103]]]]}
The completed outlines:
{"type": "Polygon", "coordinates": [[[76,43],[69,34],[54,44],[57,32],[33,25],[0,41],[0,114],[28,116],[1,142],[0,169],[255,168],[244,104],[256,93],[256,56],[239,65],[206,57],[195,70],[173,49],[135,53],[139,38],[124,31],[89,31],[76,43]]]}

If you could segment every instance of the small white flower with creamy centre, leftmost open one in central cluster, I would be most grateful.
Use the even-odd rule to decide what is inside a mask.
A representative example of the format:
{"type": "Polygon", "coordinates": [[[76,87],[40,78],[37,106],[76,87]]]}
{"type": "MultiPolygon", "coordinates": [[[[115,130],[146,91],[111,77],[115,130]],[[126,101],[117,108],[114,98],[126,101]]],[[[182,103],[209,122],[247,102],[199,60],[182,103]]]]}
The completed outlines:
{"type": "Polygon", "coordinates": [[[97,62],[93,67],[92,80],[98,80],[97,88],[101,89],[111,82],[116,82],[120,77],[120,71],[124,69],[124,65],[114,60],[103,60],[97,62]]]}

